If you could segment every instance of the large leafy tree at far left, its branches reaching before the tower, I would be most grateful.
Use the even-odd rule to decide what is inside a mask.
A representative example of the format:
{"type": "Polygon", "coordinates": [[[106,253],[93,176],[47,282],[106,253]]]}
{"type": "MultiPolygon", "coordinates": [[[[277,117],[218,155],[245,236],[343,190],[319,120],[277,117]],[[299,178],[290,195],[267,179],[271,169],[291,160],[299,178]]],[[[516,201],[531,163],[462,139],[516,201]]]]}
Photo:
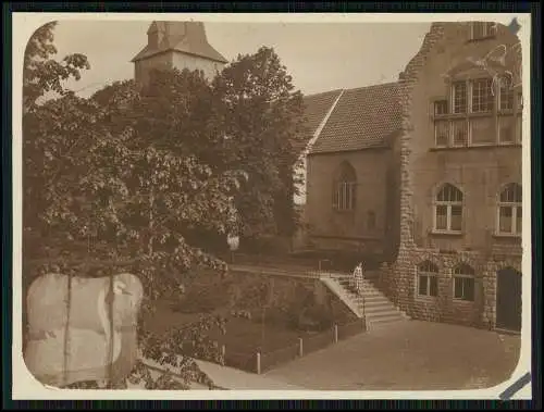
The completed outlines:
{"type": "MultiPolygon", "coordinates": [[[[52,26],[36,36],[30,45],[36,50],[47,49],[38,54],[52,52],[52,26]]],[[[193,226],[225,232],[237,185],[235,172],[215,173],[191,140],[198,138],[201,148],[211,147],[206,141],[215,138],[218,129],[213,118],[201,122],[199,117],[198,109],[209,96],[206,82],[198,74],[158,73],[144,93],[126,82],[82,99],[62,88],[65,73],[59,66],[51,62],[30,62],[29,66],[40,68],[25,71],[24,224],[45,235],[40,242],[74,254],[74,245],[92,238],[114,262],[132,258],[129,267],[140,276],[147,292],[145,311],[151,311],[153,299],[176,287],[178,275],[193,265],[223,266],[184,238],[193,226]],[[60,97],[37,104],[50,90],[60,97]],[[201,127],[196,128],[198,125],[201,127]]],[[[32,258],[34,250],[26,248],[25,252],[32,258]]],[[[85,255],[103,258],[90,246],[85,255]]],[[[85,266],[63,255],[54,262],[62,273],[85,272],[85,266]]],[[[119,267],[109,263],[100,270],[108,274],[119,267]]],[[[223,327],[222,320],[202,319],[161,338],[143,332],[143,351],[181,367],[186,380],[211,384],[188,355],[219,357],[219,351],[206,349],[210,344],[206,330],[211,324],[223,327]],[[181,346],[186,339],[198,344],[189,353],[181,346]]],[[[143,371],[138,364],[132,378],[145,378],[148,388],[171,387],[168,376],[148,380],[149,373],[143,371]]]]}

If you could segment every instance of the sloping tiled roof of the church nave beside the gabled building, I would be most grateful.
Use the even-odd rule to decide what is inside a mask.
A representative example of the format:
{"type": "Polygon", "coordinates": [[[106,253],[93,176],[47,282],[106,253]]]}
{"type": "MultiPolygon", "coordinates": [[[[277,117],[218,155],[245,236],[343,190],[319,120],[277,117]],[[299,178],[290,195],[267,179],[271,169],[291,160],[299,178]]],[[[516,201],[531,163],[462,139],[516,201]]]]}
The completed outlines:
{"type": "Polygon", "coordinates": [[[360,150],[385,145],[400,129],[397,83],[345,90],[310,153],[360,150]]]}

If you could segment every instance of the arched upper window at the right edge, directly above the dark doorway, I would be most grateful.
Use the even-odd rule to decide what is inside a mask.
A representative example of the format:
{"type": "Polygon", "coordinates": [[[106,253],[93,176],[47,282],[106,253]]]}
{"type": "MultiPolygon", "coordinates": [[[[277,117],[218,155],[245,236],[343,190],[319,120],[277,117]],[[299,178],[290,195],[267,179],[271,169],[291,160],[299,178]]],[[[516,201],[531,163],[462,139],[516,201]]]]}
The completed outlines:
{"type": "Polygon", "coordinates": [[[498,196],[498,234],[521,234],[521,185],[510,183],[498,196]]]}

